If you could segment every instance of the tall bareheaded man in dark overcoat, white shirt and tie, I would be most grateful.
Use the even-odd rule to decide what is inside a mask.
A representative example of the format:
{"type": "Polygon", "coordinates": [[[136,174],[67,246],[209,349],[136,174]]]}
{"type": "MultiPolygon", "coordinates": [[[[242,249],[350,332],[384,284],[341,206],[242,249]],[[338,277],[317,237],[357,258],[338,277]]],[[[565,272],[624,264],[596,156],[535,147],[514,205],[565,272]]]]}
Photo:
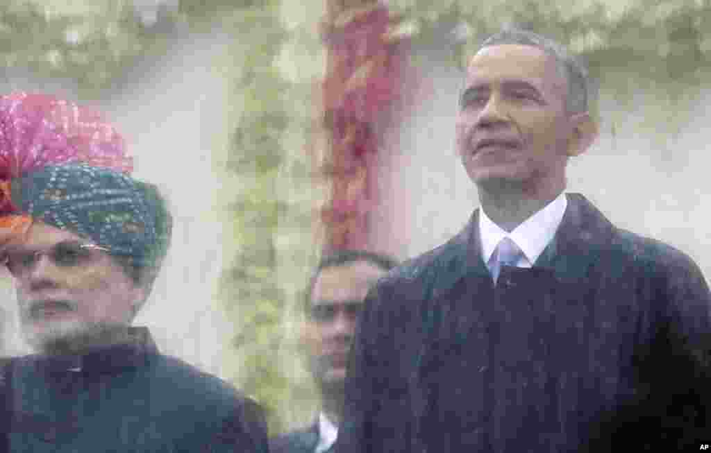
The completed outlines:
{"type": "Polygon", "coordinates": [[[699,268],[565,193],[567,160],[597,135],[587,84],[565,49],[526,31],[471,59],[456,143],[481,209],[368,294],[338,453],[708,442],[699,268]]]}

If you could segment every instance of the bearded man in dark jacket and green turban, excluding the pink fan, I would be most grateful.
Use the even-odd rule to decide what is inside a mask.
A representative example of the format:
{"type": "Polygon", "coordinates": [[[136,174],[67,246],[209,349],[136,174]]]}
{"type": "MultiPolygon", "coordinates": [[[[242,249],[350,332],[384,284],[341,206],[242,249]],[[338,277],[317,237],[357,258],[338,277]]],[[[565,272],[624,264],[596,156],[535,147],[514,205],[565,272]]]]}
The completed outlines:
{"type": "Polygon", "coordinates": [[[38,354],[4,366],[9,450],[266,452],[256,403],[129,325],[169,245],[157,188],[63,164],[23,175],[11,192],[17,212],[0,219],[19,228],[1,256],[38,354]]]}

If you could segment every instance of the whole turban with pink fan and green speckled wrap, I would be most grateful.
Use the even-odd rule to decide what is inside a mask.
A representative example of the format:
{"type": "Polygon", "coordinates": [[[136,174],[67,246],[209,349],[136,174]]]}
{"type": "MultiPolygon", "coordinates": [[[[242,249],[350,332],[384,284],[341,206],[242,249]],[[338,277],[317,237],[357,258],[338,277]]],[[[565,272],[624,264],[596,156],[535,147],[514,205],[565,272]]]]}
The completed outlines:
{"type": "Polygon", "coordinates": [[[122,136],[96,111],[46,94],[0,97],[0,243],[41,220],[134,267],[160,266],[171,217],[132,169],[122,136]]]}

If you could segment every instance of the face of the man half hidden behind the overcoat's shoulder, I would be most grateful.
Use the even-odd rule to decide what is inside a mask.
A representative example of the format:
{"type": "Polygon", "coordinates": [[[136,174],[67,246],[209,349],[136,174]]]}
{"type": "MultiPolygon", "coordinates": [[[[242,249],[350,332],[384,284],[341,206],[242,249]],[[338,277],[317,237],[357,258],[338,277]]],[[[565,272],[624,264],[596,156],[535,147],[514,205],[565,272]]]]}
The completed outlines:
{"type": "Polygon", "coordinates": [[[385,271],[367,261],[324,268],[311,293],[306,322],[311,371],[321,386],[340,386],[363,300],[385,271]]]}

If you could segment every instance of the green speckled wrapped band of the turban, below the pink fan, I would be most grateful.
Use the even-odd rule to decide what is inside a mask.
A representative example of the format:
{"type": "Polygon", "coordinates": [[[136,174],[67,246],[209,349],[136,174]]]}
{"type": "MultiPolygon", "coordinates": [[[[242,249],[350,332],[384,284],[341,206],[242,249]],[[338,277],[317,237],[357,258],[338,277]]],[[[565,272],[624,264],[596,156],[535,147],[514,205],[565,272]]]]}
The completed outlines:
{"type": "Polygon", "coordinates": [[[48,165],[11,182],[12,202],[52,227],[107,247],[137,268],[159,268],[172,217],[156,186],[107,168],[48,165]]]}

